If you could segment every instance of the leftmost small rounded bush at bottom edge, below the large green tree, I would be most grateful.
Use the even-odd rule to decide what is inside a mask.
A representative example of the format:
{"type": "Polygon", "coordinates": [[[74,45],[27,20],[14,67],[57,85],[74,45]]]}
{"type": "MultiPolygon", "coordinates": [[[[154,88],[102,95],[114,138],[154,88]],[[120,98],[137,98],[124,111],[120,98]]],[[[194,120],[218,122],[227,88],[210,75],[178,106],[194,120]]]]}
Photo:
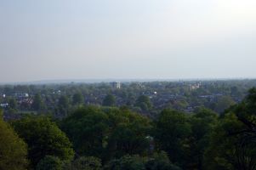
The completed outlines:
{"type": "Polygon", "coordinates": [[[37,164],[37,170],[62,170],[63,163],[59,157],[45,156],[37,164]]]}

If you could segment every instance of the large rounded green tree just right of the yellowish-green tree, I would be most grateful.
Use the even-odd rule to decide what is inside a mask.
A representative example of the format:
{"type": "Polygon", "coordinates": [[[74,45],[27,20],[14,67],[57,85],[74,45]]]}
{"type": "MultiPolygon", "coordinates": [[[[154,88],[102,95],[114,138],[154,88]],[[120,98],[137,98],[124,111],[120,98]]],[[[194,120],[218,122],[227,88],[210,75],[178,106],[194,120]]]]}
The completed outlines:
{"type": "Polygon", "coordinates": [[[57,156],[61,161],[71,161],[74,151],[71,142],[59,127],[44,116],[26,116],[14,124],[14,129],[26,141],[32,166],[44,156],[57,156]]]}

